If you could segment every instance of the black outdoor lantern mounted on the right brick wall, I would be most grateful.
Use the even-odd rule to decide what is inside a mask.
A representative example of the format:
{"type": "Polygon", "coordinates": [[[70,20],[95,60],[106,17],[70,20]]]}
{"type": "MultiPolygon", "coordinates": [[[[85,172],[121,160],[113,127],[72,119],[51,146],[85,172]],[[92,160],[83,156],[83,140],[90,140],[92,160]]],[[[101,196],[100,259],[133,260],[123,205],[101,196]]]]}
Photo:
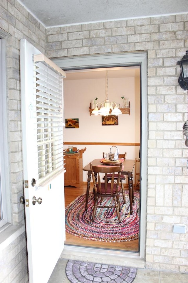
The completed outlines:
{"type": "Polygon", "coordinates": [[[188,89],[188,50],[182,59],[177,62],[177,65],[180,65],[181,68],[181,74],[179,76],[178,83],[181,88],[186,91],[188,89]]]}

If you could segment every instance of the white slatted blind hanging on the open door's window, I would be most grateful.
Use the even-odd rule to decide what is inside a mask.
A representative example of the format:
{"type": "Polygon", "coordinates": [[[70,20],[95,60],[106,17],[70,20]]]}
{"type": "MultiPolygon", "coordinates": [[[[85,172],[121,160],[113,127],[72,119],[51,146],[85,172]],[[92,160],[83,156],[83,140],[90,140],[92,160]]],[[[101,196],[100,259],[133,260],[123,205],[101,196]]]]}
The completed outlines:
{"type": "Polygon", "coordinates": [[[38,184],[63,170],[63,76],[46,62],[36,66],[38,184]]]}

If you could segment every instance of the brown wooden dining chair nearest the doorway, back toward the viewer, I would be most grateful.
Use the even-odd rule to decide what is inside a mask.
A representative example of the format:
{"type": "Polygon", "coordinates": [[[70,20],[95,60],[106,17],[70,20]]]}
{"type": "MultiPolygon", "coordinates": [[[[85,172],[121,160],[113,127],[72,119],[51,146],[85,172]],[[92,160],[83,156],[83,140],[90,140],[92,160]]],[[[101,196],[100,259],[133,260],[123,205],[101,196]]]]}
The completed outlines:
{"type": "Polygon", "coordinates": [[[91,174],[93,178],[93,194],[94,194],[94,208],[93,208],[93,215],[92,215],[92,222],[94,222],[96,210],[97,208],[115,208],[117,213],[117,218],[119,223],[121,223],[120,219],[120,201],[119,195],[121,192],[120,183],[120,175],[122,171],[122,163],[119,166],[93,166],[90,163],[91,174]],[[104,182],[100,182],[100,173],[104,174],[104,182]],[[111,183],[108,183],[108,173],[112,174],[111,183]],[[116,182],[114,175],[118,175],[116,182]],[[98,176],[97,176],[98,175],[98,176]],[[97,181],[98,180],[98,181],[97,181]],[[104,197],[109,197],[114,199],[114,206],[106,206],[102,204],[102,201],[98,201],[98,198],[101,197],[103,200],[104,197]]]}

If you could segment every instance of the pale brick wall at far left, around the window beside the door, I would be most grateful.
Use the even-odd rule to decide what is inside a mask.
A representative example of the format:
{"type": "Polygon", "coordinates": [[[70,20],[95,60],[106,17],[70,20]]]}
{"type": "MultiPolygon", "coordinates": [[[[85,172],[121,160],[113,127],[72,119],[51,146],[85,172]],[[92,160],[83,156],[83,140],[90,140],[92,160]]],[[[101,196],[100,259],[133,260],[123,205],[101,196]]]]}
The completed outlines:
{"type": "MultiPolygon", "coordinates": [[[[25,38],[45,53],[45,28],[17,1],[0,1],[0,32],[6,38],[7,127],[9,129],[9,171],[12,224],[24,223],[23,162],[21,141],[20,39],[25,38]],[[2,31],[2,32],[1,32],[2,31]]],[[[0,249],[0,282],[28,282],[25,233],[0,249]]]]}

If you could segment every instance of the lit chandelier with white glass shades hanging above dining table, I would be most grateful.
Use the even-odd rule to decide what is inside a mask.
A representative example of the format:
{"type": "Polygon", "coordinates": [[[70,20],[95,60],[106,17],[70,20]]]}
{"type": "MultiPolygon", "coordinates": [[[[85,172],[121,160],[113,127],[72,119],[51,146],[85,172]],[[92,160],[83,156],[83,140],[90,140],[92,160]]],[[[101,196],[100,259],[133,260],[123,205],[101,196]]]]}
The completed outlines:
{"type": "Polygon", "coordinates": [[[99,114],[103,116],[122,114],[121,110],[117,107],[115,101],[110,102],[108,99],[108,71],[106,71],[105,101],[96,103],[95,109],[91,113],[95,115],[99,114]],[[111,113],[110,110],[112,110],[111,113]]]}

